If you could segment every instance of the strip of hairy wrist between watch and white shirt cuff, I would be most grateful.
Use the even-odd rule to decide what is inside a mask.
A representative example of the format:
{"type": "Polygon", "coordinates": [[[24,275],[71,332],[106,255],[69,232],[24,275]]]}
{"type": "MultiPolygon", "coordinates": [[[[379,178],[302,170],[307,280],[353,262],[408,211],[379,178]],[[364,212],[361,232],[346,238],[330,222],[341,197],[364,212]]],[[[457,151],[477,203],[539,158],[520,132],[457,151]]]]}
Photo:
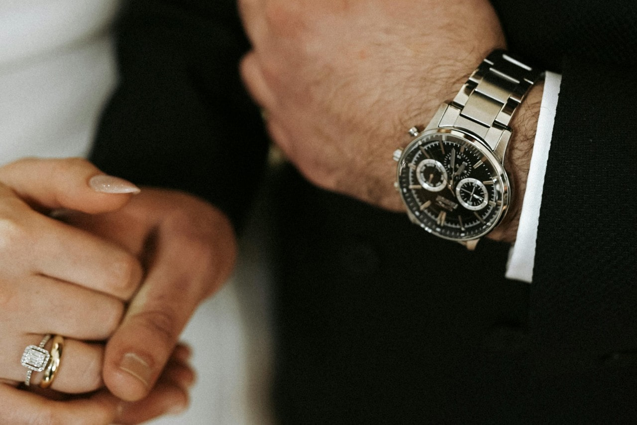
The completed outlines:
{"type": "Polygon", "coordinates": [[[512,186],[512,204],[505,220],[488,237],[496,241],[514,242],[526,191],[533,142],[538,127],[544,82],[531,88],[512,121],[512,138],[506,151],[505,168],[512,186]]]}

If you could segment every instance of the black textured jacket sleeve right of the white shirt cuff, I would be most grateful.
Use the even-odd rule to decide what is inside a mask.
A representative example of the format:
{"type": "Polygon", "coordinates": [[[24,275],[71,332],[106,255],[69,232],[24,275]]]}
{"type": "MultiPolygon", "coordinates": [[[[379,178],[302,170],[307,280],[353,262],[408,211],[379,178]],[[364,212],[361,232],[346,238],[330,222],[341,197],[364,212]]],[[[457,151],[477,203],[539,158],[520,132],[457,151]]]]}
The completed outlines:
{"type": "Polygon", "coordinates": [[[545,340],[637,348],[635,75],[564,61],[531,309],[545,340]]]}

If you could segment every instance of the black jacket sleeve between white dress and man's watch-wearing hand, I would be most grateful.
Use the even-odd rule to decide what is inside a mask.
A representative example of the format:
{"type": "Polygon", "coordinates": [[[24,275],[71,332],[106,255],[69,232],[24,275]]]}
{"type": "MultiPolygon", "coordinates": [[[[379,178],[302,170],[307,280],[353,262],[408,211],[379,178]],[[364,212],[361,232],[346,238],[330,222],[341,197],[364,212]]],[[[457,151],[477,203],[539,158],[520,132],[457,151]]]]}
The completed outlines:
{"type": "Polygon", "coordinates": [[[233,0],[136,0],[117,26],[120,82],[91,159],[136,184],[188,191],[240,225],[267,142],[240,81],[233,0]]]}

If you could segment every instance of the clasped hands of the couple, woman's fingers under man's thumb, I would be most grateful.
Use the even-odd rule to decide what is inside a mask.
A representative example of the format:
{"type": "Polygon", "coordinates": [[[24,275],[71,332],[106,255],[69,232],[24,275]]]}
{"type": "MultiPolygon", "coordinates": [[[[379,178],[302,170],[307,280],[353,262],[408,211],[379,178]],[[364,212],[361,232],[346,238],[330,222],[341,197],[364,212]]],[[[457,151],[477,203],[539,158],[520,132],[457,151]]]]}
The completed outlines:
{"type": "Polygon", "coordinates": [[[91,180],[99,174],[83,160],[0,168],[0,417],[11,423],[136,423],[187,404],[194,377],[176,339],[229,274],[233,232],[222,213],[182,193],[100,193],[88,182],[134,186],[91,180]],[[58,218],[83,230],[41,214],[61,208],[75,212],[58,218]],[[105,389],[54,401],[34,394],[38,373],[34,392],[15,389],[22,351],[43,334],[66,338],[48,396],[99,390],[103,377],[118,398],[141,401],[105,389]]]}

